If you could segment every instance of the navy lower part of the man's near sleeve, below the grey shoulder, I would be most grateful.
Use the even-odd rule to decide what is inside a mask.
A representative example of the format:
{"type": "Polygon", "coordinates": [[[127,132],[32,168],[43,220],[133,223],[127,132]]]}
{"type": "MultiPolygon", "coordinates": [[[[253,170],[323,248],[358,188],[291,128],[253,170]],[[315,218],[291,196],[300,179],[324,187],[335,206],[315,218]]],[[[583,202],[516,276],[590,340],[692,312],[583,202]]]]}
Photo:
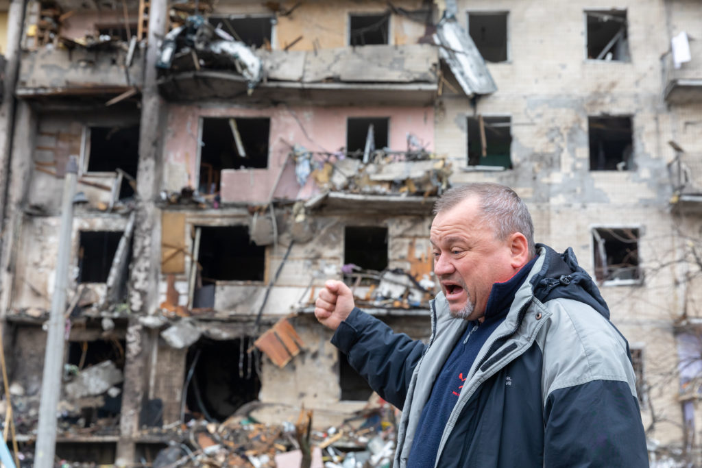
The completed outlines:
{"type": "Polygon", "coordinates": [[[639,404],[627,382],[557,389],[544,408],[544,467],[648,467],[639,404]]]}

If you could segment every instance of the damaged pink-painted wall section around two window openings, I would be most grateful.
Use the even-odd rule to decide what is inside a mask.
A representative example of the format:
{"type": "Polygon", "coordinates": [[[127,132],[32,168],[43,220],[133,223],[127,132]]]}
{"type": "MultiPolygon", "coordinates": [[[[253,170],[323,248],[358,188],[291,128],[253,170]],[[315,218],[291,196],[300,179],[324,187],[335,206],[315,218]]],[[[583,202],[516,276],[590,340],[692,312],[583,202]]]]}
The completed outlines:
{"type": "MultiPolygon", "coordinates": [[[[221,173],[223,202],[263,203],[284,165],[292,145],[308,150],[336,152],[346,145],[347,117],[389,117],[390,149],[406,149],[407,133],[415,135],[425,147],[434,149],[433,107],[288,107],[244,109],[239,107],[199,107],[171,105],[166,133],[166,189],[179,190],[197,181],[198,126],[200,117],[270,117],[268,167],[265,169],[227,169],[221,173]],[[169,169],[170,168],[170,169],[169,169]]],[[[316,156],[322,161],[323,156],[316,156]]],[[[300,199],[314,194],[312,178],[300,187],[294,163],[284,168],[276,189],[277,198],[300,199]]]]}

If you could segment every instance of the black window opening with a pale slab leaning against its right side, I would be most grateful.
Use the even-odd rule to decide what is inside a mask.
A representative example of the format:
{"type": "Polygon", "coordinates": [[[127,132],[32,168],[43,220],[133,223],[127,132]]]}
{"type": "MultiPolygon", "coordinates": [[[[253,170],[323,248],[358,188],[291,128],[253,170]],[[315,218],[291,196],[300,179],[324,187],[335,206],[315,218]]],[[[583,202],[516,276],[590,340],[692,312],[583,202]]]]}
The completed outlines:
{"type": "Polygon", "coordinates": [[[117,252],[121,231],[81,231],[78,282],[105,283],[117,252]]]}

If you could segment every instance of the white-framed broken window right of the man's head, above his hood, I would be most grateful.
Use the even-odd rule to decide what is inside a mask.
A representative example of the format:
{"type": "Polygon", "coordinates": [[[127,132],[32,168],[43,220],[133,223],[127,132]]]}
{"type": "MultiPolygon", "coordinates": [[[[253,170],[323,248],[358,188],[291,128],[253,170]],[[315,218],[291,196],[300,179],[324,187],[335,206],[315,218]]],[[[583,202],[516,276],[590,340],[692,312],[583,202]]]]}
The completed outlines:
{"type": "Polygon", "coordinates": [[[639,239],[639,229],[635,227],[592,229],[597,281],[628,284],[639,281],[639,239]]]}

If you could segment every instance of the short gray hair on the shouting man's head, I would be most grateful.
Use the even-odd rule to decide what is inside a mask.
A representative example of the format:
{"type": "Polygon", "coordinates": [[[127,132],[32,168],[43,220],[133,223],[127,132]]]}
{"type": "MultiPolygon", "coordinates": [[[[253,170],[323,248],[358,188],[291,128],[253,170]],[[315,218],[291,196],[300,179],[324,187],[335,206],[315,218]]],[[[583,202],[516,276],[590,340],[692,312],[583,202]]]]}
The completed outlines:
{"type": "Polygon", "coordinates": [[[529,246],[529,258],[534,258],[534,222],[531,221],[529,208],[519,195],[506,185],[475,182],[453,187],[436,201],[433,213],[437,215],[450,210],[471,196],[479,197],[480,219],[492,227],[497,239],[503,241],[515,232],[524,234],[529,246]]]}

